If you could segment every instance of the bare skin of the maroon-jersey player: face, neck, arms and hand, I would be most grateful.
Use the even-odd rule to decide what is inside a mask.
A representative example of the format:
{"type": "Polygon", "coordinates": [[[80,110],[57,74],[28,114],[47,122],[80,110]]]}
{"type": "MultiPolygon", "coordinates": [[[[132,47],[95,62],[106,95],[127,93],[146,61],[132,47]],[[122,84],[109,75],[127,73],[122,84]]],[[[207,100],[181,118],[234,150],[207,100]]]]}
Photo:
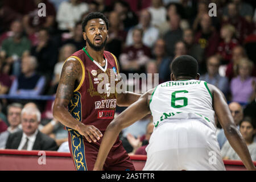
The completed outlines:
{"type": "MultiPolygon", "coordinates": [[[[102,19],[89,20],[85,26],[85,32],[83,32],[84,39],[87,38],[94,46],[101,46],[105,39],[108,39],[108,30],[106,24],[102,19]],[[86,38],[87,36],[87,38],[86,38]],[[101,40],[96,40],[99,38],[101,40]]],[[[95,51],[86,42],[86,51],[92,56],[102,67],[105,65],[104,60],[104,48],[100,51],[95,51]]],[[[119,67],[119,65],[118,65],[119,67]]],[[[102,133],[93,125],[84,125],[77,121],[69,113],[67,106],[73,96],[73,91],[77,88],[82,79],[82,66],[79,60],[75,58],[69,58],[65,61],[63,69],[61,71],[59,86],[56,92],[55,104],[53,106],[53,117],[63,123],[63,125],[78,131],[85,137],[88,142],[97,142],[102,137],[102,133]]],[[[131,92],[125,92],[117,94],[118,106],[129,106],[133,102],[137,101],[140,94],[131,92]]]]}

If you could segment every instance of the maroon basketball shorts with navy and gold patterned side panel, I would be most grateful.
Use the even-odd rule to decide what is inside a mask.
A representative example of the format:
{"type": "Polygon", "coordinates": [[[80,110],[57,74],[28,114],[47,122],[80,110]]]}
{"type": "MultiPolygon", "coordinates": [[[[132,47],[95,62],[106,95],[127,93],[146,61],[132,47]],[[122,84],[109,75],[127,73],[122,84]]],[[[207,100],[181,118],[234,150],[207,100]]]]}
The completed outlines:
{"type": "MultiPolygon", "coordinates": [[[[96,143],[89,143],[77,131],[69,130],[69,150],[77,171],[91,171],[93,169],[94,163],[97,159],[101,140],[102,138],[96,143]]],[[[105,171],[135,170],[129,155],[122,146],[121,140],[117,140],[110,150],[103,169],[105,171]]]]}

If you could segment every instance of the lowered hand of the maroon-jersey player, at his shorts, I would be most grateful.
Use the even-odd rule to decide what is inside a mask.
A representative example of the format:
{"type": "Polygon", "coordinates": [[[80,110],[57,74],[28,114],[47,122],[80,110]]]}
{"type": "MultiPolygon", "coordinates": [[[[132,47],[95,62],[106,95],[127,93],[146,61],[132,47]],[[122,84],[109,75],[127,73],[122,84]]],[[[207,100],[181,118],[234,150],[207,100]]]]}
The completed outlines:
{"type": "Polygon", "coordinates": [[[80,125],[77,131],[85,137],[88,142],[97,142],[102,137],[102,133],[93,125],[80,125]]]}

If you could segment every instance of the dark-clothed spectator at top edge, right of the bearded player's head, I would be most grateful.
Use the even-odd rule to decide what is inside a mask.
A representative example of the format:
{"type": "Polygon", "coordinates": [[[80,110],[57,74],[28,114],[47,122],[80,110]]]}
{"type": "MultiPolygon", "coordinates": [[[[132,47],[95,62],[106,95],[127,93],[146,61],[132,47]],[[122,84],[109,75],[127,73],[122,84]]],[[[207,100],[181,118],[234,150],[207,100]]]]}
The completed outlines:
{"type": "Polygon", "coordinates": [[[129,3],[124,0],[114,2],[113,10],[118,13],[125,31],[138,24],[137,15],[131,10],[129,3]]]}

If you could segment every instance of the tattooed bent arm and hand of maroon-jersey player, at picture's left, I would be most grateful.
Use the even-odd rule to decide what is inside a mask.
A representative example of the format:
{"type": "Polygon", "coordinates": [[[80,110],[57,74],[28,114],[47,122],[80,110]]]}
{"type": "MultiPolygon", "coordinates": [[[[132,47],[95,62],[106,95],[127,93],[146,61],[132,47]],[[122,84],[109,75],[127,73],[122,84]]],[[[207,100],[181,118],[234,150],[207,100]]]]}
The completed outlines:
{"type": "Polygon", "coordinates": [[[79,60],[69,58],[65,61],[53,106],[53,117],[63,123],[63,125],[84,135],[88,142],[92,142],[92,140],[96,142],[97,139],[102,137],[100,130],[92,125],[84,125],[77,121],[67,109],[69,101],[72,99],[76,83],[81,80],[81,75],[82,67],[79,60]]]}

